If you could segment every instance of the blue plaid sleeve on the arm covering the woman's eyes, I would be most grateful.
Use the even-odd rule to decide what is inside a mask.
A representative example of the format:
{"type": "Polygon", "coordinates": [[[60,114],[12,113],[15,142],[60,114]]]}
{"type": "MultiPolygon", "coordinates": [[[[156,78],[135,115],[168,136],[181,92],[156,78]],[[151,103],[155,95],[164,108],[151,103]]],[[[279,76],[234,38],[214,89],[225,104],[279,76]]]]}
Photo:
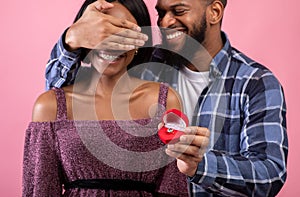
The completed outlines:
{"type": "Polygon", "coordinates": [[[52,87],[70,85],[74,82],[81,50],[69,52],[63,45],[63,34],[52,49],[46,65],[46,90],[52,87]]]}

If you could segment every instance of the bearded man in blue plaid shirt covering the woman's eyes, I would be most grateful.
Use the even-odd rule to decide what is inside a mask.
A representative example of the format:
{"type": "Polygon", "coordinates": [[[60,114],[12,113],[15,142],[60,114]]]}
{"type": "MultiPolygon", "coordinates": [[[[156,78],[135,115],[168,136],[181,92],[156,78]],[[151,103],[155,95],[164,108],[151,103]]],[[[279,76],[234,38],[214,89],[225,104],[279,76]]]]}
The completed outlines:
{"type": "MultiPolygon", "coordinates": [[[[267,68],[231,47],[221,31],[226,3],[158,0],[157,23],[170,48],[158,46],[153,60],[172,67],[147,67],[141,77],[169,82],[192,119],[187,134],[166,149],[187,175],[191,196],[275,196],[287,174],[283,90],[267,68]],[[193,40],[202,48],[191,48],[193,40]],[[169,58],[166,53],[184,58],[174,61],[176,54],[169,58]]],[[[72,83],[81,47],[94,48],[105,38],[100,47],[129,50],[143,45],[146,37],[139,28],[105,15],[110,6],[99,0],[59,40],[47,65],[48,87],[72,83]],[[77,25],[86,25],[86,32],[78,32],[77,25]],[[117,33],[122,29],[126,32],[117,33]]]]}

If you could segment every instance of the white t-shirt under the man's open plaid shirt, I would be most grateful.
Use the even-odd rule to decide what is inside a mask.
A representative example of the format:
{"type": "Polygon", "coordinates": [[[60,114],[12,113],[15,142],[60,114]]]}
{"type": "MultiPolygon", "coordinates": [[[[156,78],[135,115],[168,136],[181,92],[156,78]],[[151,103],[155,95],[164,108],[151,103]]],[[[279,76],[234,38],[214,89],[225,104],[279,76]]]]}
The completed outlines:
{"type": "Polygon", "coordinates": [[[184,113],[191,124],[195,106],[201,92],[208,86],[209,71],[195,72],[183,67],[178,74],[178,92],[182,98],[184,113]]]}

